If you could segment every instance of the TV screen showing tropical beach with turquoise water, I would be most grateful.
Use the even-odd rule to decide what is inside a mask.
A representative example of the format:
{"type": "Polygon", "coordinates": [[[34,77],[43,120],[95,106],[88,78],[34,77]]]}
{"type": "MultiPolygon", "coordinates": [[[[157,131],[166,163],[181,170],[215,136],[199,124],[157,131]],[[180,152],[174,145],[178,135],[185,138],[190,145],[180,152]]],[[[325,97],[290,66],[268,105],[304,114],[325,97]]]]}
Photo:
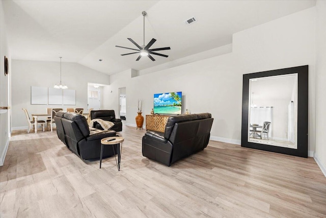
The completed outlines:
{"type": "Polygon", "coordinates": [[[154,113],[181,114],[182,92],[154,94],[154,113]]]}

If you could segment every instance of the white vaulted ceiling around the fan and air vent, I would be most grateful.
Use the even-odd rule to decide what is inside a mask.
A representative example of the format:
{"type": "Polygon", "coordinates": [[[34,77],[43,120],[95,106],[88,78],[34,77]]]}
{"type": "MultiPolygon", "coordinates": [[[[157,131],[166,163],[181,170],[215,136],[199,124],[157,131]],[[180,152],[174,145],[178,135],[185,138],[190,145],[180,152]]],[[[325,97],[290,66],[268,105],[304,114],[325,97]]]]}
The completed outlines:
{"type": "Polygon", "coordinates": [[[232,43],[232,34],[315,6],[315,1],[2,1],[11,58],[76,62],[111,75],[143,70],[232,43]],[[127,38],[151,49],[152,55],[121,56],[137,49],[127,38]],[[185,25],[195,17],[198,21],[185,25]],[[103,61],[98,61],[103,59],[103,61]]]}

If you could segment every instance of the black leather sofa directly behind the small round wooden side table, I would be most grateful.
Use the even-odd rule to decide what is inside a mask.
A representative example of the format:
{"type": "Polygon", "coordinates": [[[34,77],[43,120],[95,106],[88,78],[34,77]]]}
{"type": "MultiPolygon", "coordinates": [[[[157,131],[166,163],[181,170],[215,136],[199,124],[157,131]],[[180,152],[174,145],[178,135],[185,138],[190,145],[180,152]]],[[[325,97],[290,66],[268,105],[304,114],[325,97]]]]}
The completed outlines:
{"type": "MultiPolygon", "coordinates": [[[[82,114],[59,111],[54,118],[59,139],[70,151],[84,160],[100,158],[101,139],[116,136],[114,130],[90,130],[82,114]]],[[[103,157],[113,155],[112,146],[103,147],[103,157]]]]}

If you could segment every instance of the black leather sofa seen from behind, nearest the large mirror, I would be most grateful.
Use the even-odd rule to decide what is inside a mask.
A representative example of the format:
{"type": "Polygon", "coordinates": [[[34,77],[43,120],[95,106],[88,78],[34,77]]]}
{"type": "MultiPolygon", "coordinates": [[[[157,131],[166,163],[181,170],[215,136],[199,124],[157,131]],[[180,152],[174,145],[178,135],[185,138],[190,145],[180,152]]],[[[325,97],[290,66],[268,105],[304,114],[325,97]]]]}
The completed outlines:
{"type": "Polygon", "coordinates": [[[170,166],[207,147],[213,118],[210,113],[171,116],[165,132],[148,131],[143,136],[143,156],[170,166]]]}

